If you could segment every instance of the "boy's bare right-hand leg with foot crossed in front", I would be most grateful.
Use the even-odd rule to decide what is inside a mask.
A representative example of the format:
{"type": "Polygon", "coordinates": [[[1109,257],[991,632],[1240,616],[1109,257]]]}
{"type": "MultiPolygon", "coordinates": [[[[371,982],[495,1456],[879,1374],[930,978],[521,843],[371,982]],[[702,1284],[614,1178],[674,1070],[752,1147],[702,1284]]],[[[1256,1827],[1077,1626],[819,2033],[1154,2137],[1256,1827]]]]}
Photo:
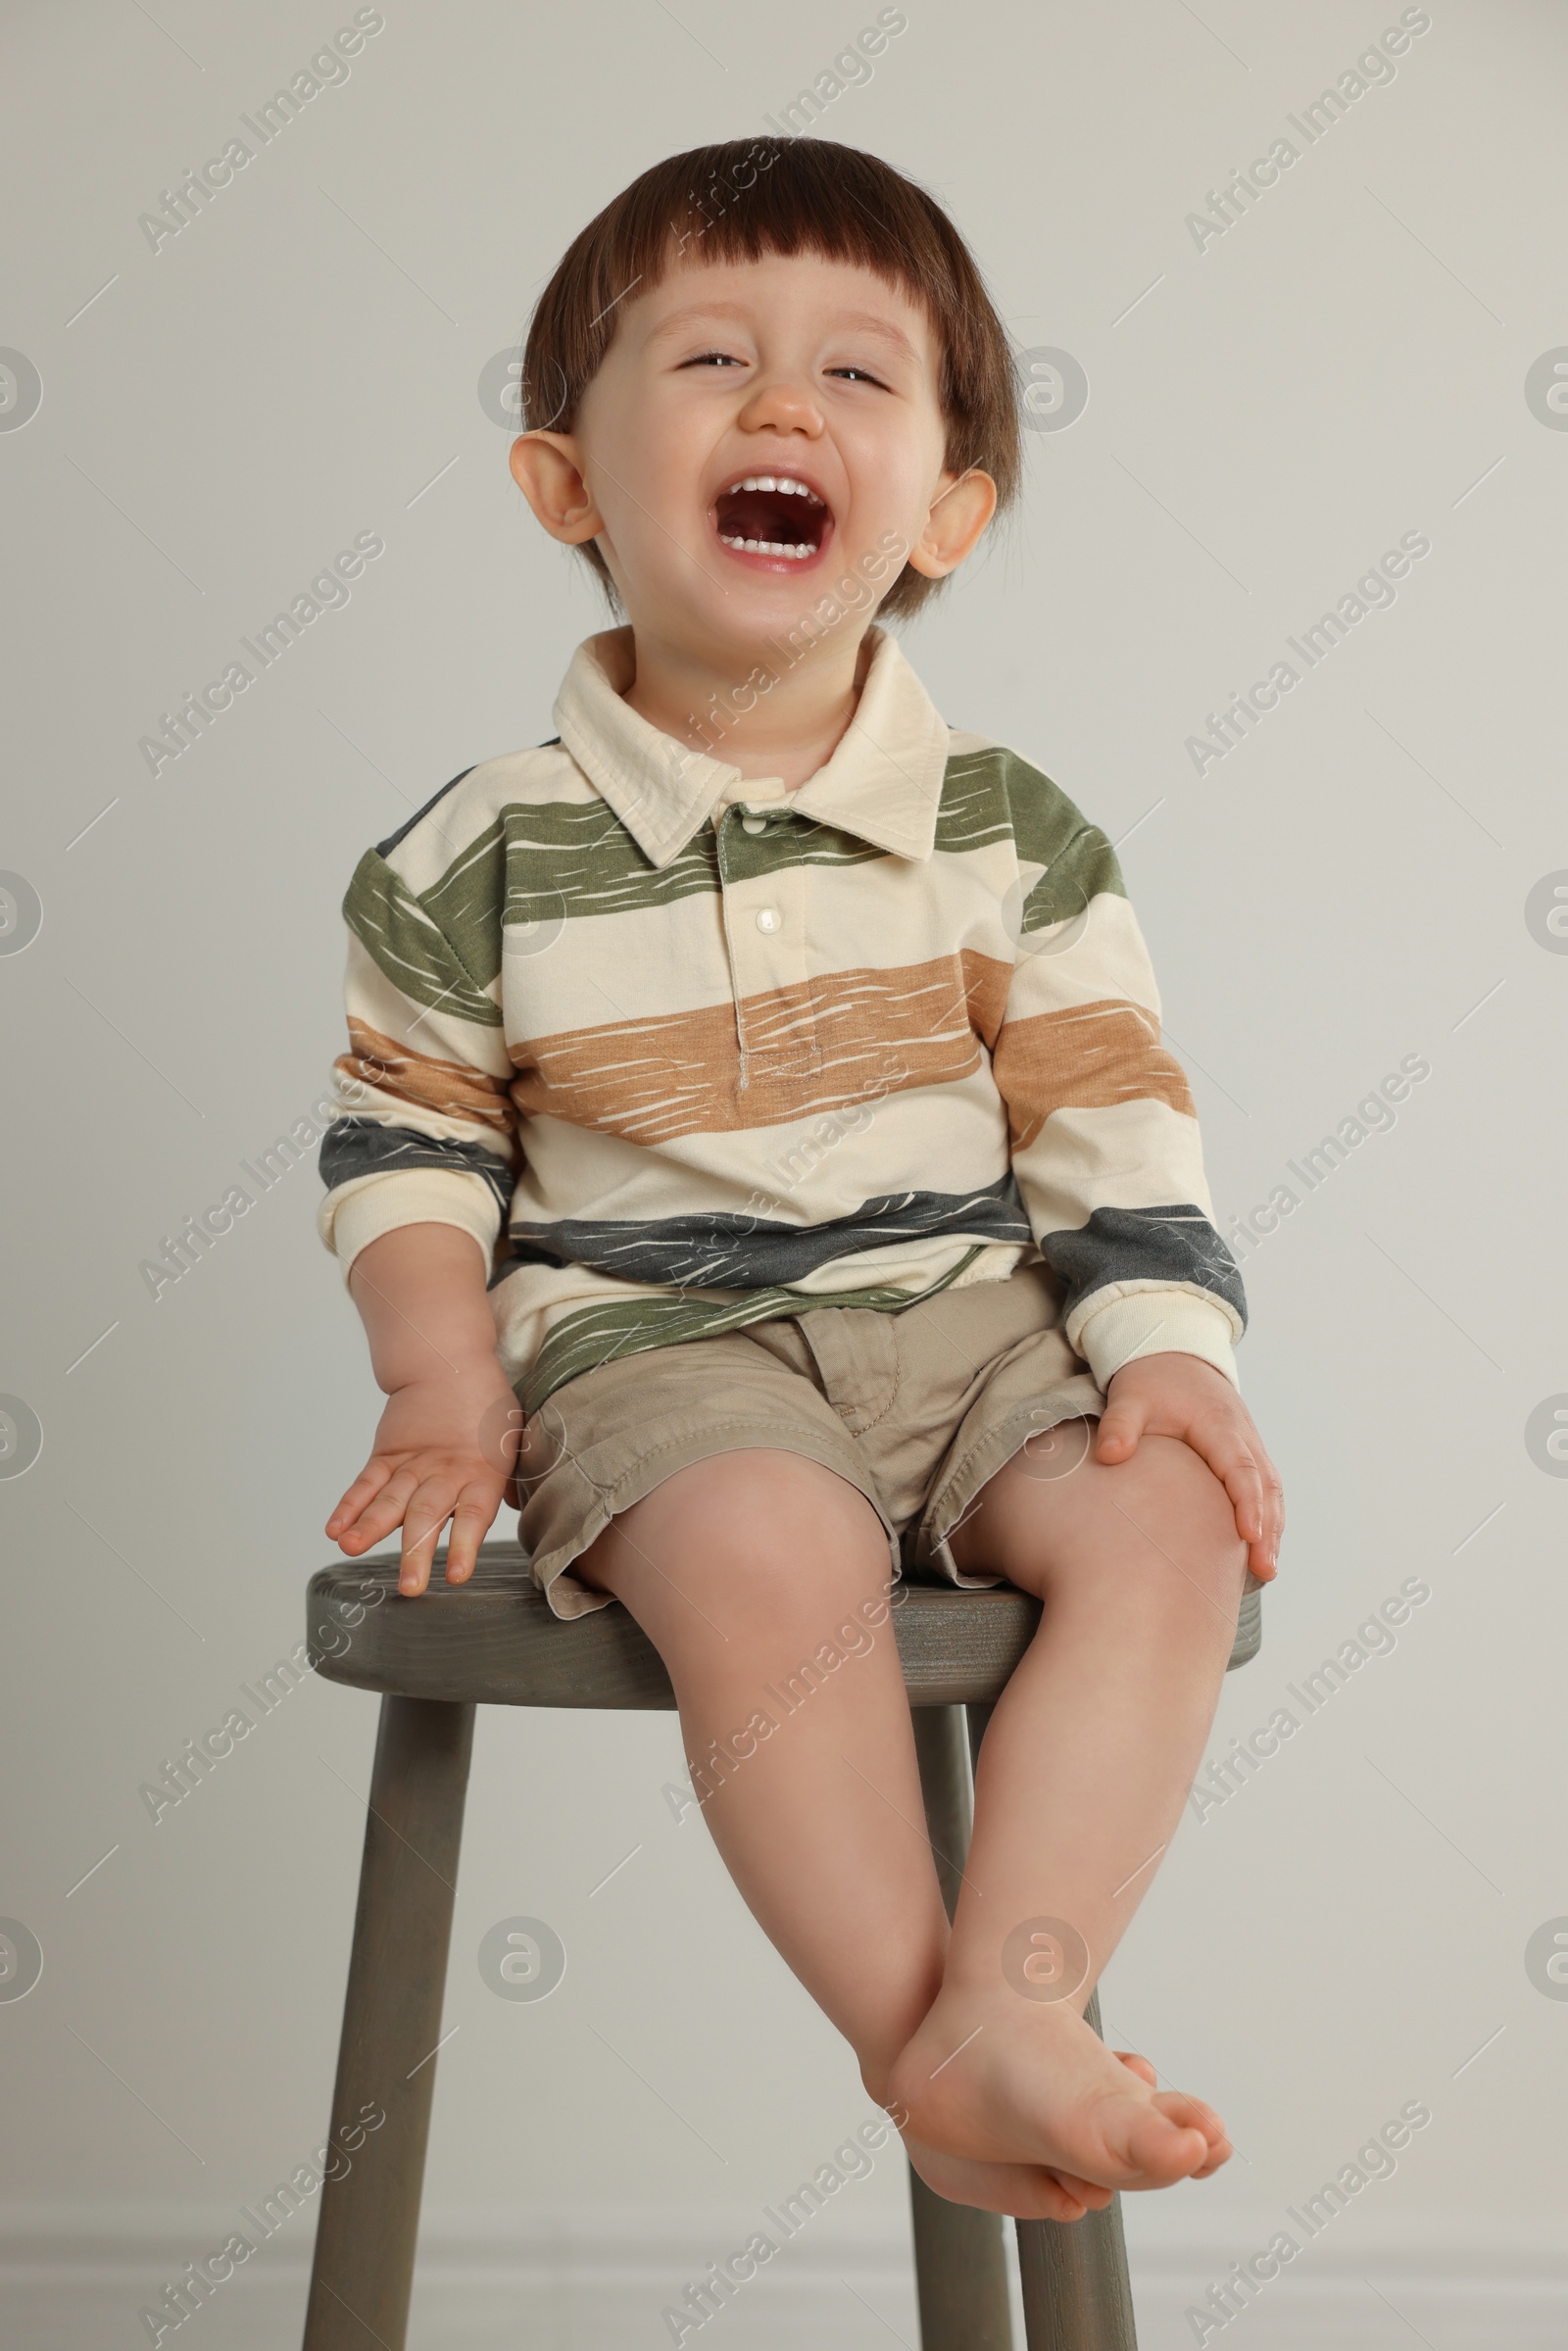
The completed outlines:
{"type": "Polygon", "coordinates": [[[1086,1422],[1053,1436],[1013,1455],[952,1538],[961,1568],[1039,1594],[1044,1617],[985,1733],[943,1991],[889,2085],[910,2128],[952,2154],[1164,2186],[1215,2170],[1225,2128],[1119,2064],[1081,2012],[1180,1820],[1246,1554],[1190,1446],[1145,1436],[1112,1467],[1086,1422]],[[1020,1940],[1044,1918],[1081,1944],[1037,1944],[1037,1989],[1020,1989],[1020,1940]]]}

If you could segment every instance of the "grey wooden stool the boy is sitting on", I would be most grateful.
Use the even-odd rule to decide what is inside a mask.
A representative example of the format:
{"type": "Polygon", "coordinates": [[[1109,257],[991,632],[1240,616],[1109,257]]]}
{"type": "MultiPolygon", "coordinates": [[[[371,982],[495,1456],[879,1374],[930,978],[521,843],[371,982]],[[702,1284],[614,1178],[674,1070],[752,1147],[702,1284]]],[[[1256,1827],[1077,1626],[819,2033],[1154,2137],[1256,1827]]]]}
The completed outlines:
{"type": "MultiPolygon", "coordinates": [[[[306,2351],[404,2351],[475,1707],[675,1707],[658,1650],[623,1606],[552,1615],[512,1542],[482,1545],[458,1587],[442,1582],[444,1556],[414,1601],[397,1596],[397,1561],[336,1561],[310,1578],[313,1646],[339,1643],[336,1627],[350,1634],[317,1672],[383,1693],[331,2128],[353,2146],[362,2106],[381,2104],[386,2123],[322,2186],[306,2351]]],[[[900,1592],[891,1622],[952,1916],[971,1761],[1039,1601],[1011,1585],[900,1592]]],[[[1229,1665],[1260,1639],[1248,1578],[1229,1665]]],[[[1100,2029],[1098,2001],[1088,2022],[1100,2029]]],[[[952,2205],[914,2172],[910,2196],[924,2351],[1011,2351],[1001,2215],[952,2205]]],[[[1013,2226],[1030,2351],[1135,2351],[1119,2198],[1072,2224],[1013,2226]]]]}

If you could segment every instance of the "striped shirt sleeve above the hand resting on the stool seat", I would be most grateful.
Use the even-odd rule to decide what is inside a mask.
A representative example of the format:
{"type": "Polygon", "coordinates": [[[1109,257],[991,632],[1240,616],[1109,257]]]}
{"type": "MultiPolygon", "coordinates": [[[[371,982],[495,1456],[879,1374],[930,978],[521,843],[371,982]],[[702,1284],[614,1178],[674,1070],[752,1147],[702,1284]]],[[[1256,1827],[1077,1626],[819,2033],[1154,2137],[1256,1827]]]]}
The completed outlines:
{"type": "Polygon", "coordinates": [[[522,1166],[496,1004],[498,907],[494,940],[473,919],[444,926],[430,905],[440,891],[416,896],[388,860],[400,839],[364,851],[343,898],[348,1053],[334,1063],[317,1208],[343,1281],[369,1241],[421,1223],[473,1232],[489,1272],[522,1166]]]}

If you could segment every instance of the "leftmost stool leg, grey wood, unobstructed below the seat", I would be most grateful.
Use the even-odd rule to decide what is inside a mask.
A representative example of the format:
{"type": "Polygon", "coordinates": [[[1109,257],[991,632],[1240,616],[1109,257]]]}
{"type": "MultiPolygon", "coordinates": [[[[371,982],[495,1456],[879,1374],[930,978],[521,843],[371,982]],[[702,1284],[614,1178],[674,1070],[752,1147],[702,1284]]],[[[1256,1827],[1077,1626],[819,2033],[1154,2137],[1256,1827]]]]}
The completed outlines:
{"type": "Polygon", "coordinates": [[[404,2346],[473,1716],[381,1700],[306,2351],[404,2346]]]}

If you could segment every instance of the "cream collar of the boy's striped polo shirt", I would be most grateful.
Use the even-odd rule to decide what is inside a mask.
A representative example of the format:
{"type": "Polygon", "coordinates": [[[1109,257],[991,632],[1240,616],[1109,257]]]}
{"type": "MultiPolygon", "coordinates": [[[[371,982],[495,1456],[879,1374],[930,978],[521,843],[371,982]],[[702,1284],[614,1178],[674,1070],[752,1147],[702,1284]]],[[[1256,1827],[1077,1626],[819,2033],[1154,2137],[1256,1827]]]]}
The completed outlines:
{"type": "MultiPolygon", "coordinates": [[[[929,858],[947,764],[947,726],[884,628],[856,715],[832,757],[785,804],[900,858],[929,858]]],[[[588,637],[555,701],[555,724],[654,865],[670,865],[715,804],[745,797],[741,769],[661,734],[621,696],[632,682],[632,632],[588,637]]]]}

